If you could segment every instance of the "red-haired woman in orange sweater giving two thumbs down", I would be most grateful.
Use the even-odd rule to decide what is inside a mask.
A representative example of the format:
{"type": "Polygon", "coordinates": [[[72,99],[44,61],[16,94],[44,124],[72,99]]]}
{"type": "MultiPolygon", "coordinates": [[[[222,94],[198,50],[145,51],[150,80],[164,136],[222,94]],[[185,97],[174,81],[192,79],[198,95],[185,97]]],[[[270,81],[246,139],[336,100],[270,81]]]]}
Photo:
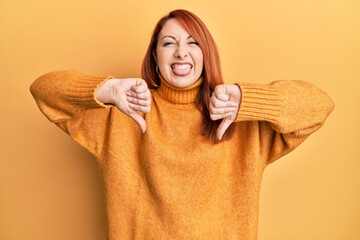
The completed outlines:
{"type": "Polygon", "coordinates": [[[157,23],[142,78],[60,71],[31,86],[98,159],[109,239],[257,239],[264,168],[323,125],[331,99],[304,81],[223,84],[210,33],[185,10],[157,23]]]}

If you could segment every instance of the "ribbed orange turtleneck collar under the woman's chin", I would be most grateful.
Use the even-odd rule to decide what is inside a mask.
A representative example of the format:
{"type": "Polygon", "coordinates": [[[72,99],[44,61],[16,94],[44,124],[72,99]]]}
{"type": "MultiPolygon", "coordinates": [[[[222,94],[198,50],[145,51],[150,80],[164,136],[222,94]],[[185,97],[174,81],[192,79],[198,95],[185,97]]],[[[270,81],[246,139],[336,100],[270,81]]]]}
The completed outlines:
{"type": "Polygon", "coordinates": [[[172,103],[186,104],[196,102],[202,83],[202,77],[187,88],[174,87],[166,82],[160,74],[159,77],[161,81],[160,86],[157,88],[157,92],[161,97],[172,103]]]}

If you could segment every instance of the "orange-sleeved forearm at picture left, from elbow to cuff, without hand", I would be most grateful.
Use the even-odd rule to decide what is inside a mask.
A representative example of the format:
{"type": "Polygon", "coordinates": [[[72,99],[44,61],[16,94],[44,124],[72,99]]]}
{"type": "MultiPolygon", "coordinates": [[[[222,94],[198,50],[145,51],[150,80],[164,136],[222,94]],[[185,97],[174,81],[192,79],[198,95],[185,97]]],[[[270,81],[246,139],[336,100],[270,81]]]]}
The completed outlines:
{"type": "Polygon", "coordinates": [[[36,79],[30,91],[44,115],[57,123],[85,110],[106,107],[94,98],[94,89],[106,79],[77,71],[56,71],[36,79]]]}

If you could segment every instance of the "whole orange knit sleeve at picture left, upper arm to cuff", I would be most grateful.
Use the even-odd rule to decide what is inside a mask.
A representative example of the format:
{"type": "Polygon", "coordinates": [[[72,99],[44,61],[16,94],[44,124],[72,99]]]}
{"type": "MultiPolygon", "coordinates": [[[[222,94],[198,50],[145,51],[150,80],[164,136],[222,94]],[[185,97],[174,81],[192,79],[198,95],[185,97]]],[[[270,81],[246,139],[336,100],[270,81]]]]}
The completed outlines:
{"type": "Polygon", "coordinates": [[[97,101],[94,92],[107,79],[57,71],[39,77],[30,87],[42,113],[96,157],[104,145],[111,107],[97,101]]]}

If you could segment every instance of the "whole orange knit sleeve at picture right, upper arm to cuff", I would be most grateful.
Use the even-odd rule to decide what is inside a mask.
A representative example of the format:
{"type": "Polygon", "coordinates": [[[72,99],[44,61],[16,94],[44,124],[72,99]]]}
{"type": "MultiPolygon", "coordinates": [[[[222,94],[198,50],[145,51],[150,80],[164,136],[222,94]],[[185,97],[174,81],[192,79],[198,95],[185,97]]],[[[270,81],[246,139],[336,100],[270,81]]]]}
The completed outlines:
{"type": "Polygon", "coordinates": [[[238,85],[242,99],[236,121],[258,121],[266,164],[295,149],[324,124],[334,108],[326,93],[305,81],[238,85]]]}

